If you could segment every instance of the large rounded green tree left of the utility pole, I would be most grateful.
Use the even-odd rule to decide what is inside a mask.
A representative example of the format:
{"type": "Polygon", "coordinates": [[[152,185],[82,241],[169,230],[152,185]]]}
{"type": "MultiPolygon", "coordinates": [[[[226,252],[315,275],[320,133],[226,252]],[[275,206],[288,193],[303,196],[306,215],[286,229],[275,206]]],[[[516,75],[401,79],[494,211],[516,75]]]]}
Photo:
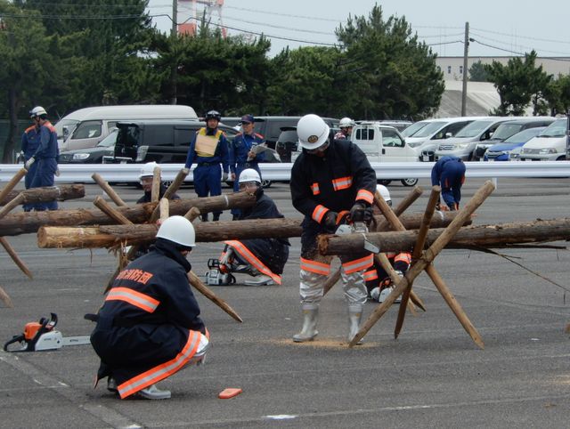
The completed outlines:
{"type": "Polygon", "coordinates": [[[354,117],[428,117],[444,93],[436,54],[419,43],[404,18],[384,20],[379,5],[368,18],[349,17],[337,31],[344,45],[350,86],[342,95],[354,117]],[[346,93],[350,91],[350,93],[346,93]]]}

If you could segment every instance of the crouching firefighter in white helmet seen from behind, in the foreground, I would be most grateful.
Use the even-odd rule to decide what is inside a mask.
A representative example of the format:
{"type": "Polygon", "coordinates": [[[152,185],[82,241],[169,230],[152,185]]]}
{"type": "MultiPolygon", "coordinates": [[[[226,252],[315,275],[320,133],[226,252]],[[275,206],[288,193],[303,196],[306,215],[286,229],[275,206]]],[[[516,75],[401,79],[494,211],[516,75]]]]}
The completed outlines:
{"type": "Polygon", "coordinates": [[[170,392],[155,384],[204,359],[208,330],[187,278],[194,246],[190,221],[169,217],[151,251],[118,274],[98,314],[85,315],[97,322],[91,334],[101,358],[97,382],[108,377],[107,388],[121,399],[168,399],[170,392]]]}

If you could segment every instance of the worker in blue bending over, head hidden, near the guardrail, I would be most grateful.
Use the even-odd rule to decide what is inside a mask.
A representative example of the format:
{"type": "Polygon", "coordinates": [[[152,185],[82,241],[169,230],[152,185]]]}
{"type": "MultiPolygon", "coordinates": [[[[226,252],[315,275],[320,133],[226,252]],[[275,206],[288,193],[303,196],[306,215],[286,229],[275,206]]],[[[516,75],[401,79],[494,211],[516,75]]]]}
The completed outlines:
{"type": "Polygon", "coordinates": [[[442,198],[450,210],[459,210],[461,186],[464,182],[465,164],[460,158],[439,158],[431,170],[431,184],[442,187],[442,198]]]}

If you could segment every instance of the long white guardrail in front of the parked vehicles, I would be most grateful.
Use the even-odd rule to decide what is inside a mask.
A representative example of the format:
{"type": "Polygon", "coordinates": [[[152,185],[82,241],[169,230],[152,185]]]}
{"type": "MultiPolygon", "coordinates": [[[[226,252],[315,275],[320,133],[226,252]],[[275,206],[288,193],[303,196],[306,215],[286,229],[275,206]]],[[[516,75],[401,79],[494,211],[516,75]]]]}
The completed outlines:
{"type": "MultiPolygon", "coordinates": [[[[466,162],[468,177],[570,177],[570,161],[505,161],[466,162]]],[[[289,181],[290,163],[262,163],[259,165],[264,179],[289,181]]],[[[371,163],[379,179],[428,178],[433,162],[371,163]]],[[[22,164],[0,164],[0,182],[8,182],[22,164]]],[[[138,182],[141,164],[61,164],[56,182],[94,182],[91,175],[99,173],[107,182],[138,182]]],[[[183,164],[161,164],[162,179],[172,180],[183,164]]],[[[192,174],[185,182],[192,182],[192,174]]]]}

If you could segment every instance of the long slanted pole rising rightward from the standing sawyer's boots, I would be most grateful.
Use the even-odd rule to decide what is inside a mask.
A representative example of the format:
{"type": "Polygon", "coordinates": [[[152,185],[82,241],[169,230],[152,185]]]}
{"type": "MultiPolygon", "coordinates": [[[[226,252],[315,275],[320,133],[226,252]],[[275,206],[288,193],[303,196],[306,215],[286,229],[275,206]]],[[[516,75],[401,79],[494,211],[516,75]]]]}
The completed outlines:
{"type": "MultiPolygon", "coordinates": [[[[387,295],[385,301],[374,309],[371,316],[362,324],[361,329],[351,340],[350,344],[348,344],[349,347],[354,347],[354,345],[358,344],[358,342],[362,340],[362,337],[366,335],[374,324],[387,312],[390,306],[394,304],[395,299],[399,295],[402,295],[403,290],[408,287],[410,282],[416,279],[416,277],[419,276],[419,273],[424,271],[428,264],[432,263],[434,259],[436,259],[436,256],[444,249],[444,247],[447,246],[453,238],[453,235],[460,230],[461,225],[476,211],[477,207],[483,204],[485,198],[491,195],[494,189],[495,187],[493,182],[487,181],[481,188],[479,188],[479,190],[476,191],[473,198],[468,201],[468,204],[459,212],[453,222],[450,223],[436,241],[434,241],[434,243],[425,252],[423,252],[421,259],[419,259],[419,261],[405,273],[403,278],[398,281],[392,293],[387,295]]],[[[402,232],[397,233],[402,234],[402,232]]],[[[472,338],[476,337],[472,332],[469,334],[472,338]]]]}

